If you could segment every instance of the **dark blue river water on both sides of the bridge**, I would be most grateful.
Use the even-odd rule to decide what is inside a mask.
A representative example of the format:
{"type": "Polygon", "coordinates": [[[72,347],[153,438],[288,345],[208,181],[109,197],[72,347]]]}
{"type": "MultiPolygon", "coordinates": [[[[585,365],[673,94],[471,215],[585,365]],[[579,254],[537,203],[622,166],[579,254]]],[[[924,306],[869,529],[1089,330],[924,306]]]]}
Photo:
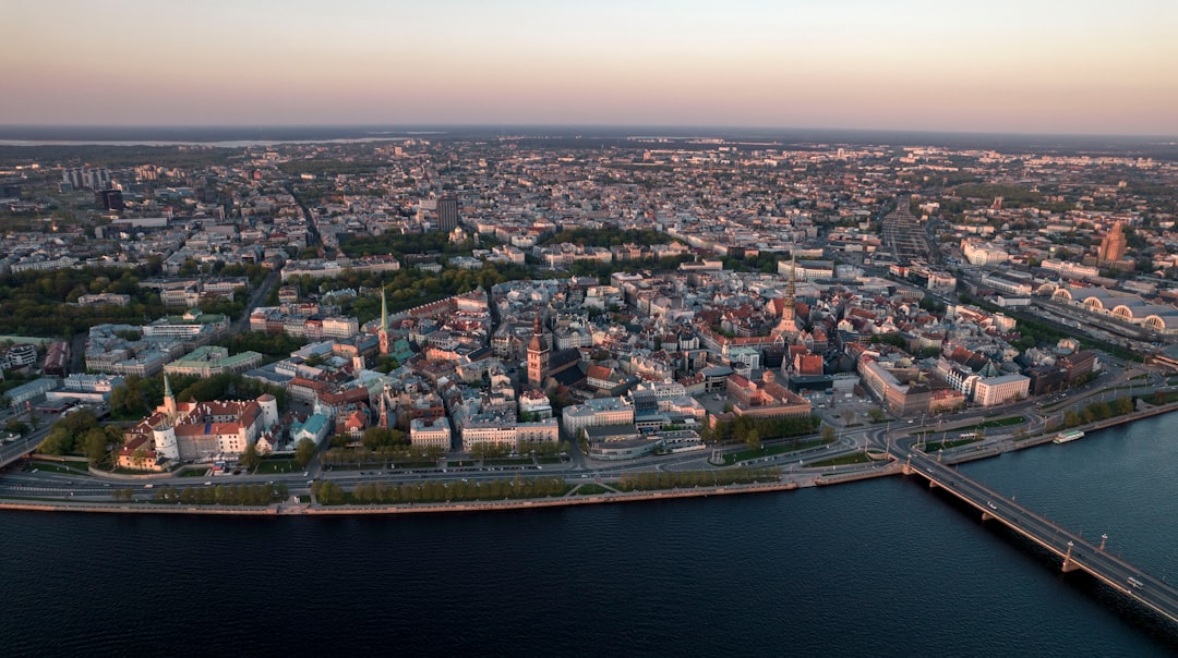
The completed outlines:
{"type": "MultiPolygon", "coordinates": [[[[1178,414],[962,465],[1178,578],[1178,414]]],[[[1178,629],[900,477],[483,514],[0,513],[6,656],[1169,656],[1178,629]]]]}

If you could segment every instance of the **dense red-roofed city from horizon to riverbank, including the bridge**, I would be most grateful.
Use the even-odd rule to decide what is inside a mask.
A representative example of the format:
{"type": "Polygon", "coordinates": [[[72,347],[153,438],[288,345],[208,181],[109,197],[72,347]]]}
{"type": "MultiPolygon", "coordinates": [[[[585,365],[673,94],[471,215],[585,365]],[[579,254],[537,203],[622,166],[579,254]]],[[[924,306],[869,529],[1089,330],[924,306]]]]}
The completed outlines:
{"type": "Polygon", "coordinates": [[[0,505],[437,513],[902,473],[1170,617],[1107,537],[951,466],[1178,404],[1164,154],[4,147],[0,505]]]}

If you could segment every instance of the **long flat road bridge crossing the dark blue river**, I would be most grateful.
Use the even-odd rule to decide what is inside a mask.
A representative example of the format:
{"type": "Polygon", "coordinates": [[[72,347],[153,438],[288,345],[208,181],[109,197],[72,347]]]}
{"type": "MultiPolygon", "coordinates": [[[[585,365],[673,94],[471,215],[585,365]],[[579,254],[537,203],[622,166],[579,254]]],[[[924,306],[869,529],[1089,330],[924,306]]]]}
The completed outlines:
{"type": "Polygon", "coordinates": [[[1001,523],[1059,556],[1065,572],[1085,571],[1178,623],[1178,590],[1106,551],[1104,539],[1100,544],[1093,544],[925,453],[913,451],[899,459],[906,474],[925,478],[929,486],[944,488],[980,511],[982,520],[1001,523]]]}

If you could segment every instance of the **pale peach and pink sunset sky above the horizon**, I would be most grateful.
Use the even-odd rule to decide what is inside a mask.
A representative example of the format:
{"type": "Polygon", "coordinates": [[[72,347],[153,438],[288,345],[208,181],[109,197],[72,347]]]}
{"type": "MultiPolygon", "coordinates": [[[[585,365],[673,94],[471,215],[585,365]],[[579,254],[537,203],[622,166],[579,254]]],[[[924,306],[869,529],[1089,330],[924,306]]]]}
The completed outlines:
{"type": "Polygon", "coordinates": [[[1173,0],[4,0],[0,125],[1178,135],[1173,0]]]}

